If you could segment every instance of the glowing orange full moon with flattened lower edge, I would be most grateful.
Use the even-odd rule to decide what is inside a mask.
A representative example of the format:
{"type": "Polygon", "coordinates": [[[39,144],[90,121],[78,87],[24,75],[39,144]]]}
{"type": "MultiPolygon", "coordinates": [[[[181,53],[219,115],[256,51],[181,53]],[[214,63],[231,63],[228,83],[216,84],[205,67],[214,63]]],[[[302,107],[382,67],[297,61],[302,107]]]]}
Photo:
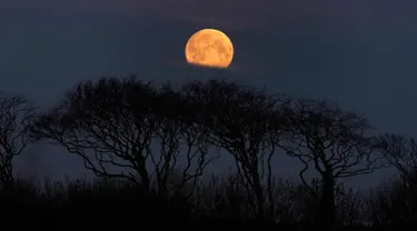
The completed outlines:
{"type": "Polygon", "coordinates": [[[224,32],[203,29],[188,40],[186,59],[195,66],[227,68],[234,59],[234,44],[224,32]]]}

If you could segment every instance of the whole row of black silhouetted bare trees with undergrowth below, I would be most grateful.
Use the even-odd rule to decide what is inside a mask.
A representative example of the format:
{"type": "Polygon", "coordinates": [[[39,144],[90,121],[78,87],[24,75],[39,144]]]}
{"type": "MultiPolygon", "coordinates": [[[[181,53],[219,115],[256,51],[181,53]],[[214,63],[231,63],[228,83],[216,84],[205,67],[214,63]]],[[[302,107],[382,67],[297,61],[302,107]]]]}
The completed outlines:
{"type": "Polygon", "coordinates": [[[20,212],[33,204],[49,211],[82,208],[109,219],[120,215],[120,209],[109,208],[123,204],[176,221],[408,225],[417,218],[417,144],[399,134],[376,133],[366,117],[335,103],[225,80],[175,87],[135,77],[102,78],[80,82],[42,113],[23,97],[2,93],[1,199],[4,208],[20,212]],[[34,142],[79,155],[97,180],[37,184],[14,179],[13,158],[34,142]],[[301,164],[297,180],[274,174],[281,155],[301,164]],[[232,160],[228,174],[207,172],[225,158],[232,160]],[[341,183],[387,167],[399,178],[376,189],[356,191],[341,183]],[[311,170],[318,178],[306,180],[311,170]]]}

